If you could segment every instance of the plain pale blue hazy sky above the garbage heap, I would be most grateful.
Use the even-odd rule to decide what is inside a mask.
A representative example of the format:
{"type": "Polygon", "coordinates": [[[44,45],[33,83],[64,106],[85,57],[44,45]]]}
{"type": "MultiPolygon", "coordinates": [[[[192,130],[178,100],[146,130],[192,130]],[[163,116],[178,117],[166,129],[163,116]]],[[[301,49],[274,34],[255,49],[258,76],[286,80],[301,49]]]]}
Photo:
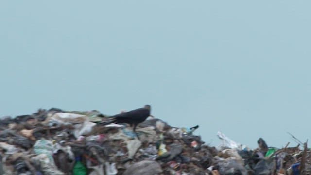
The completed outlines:
{"type": "Polygon", "coordinates": [[[1,0],[0,116],[157,118],[218,145],[311,139],[310,0],[1,0]]]}

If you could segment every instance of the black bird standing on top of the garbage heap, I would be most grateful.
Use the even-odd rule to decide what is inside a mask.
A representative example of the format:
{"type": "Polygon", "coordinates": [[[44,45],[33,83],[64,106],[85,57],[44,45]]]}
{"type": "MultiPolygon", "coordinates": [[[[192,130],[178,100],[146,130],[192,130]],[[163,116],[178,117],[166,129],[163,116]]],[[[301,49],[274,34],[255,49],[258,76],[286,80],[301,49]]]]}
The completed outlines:
{"type": "MultiPolygon", "coordinates": [[[[110,123],[127,123],[131,126],[134,125],[133,131],[135,132],[135,129],[137,125],[147,119],[147,117],[152,116],[150,115],[151,106],[145,105],[143,108],[131,110],[129,112],[123,112],[121,114],[117,114],[114,116],[110,116],[109,118],[112,118],[111,121],[103,122],[102,124],[107,125],[110,123]]],[[[152,116],[153,117],[153,116],[152,116]]]]}

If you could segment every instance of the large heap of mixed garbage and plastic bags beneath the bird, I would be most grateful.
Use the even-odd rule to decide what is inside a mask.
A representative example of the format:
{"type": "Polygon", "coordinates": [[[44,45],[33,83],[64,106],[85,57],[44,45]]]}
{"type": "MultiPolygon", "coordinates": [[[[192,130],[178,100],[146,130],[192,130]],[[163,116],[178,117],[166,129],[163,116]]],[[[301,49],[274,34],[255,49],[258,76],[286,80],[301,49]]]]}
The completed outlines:
{"type": "Polygon", "coordinates": [[[52,108],[0,120],[0,175],[311,175],[304,145],[251,150],[223,133],[218,148],[160,119],[128,125],[98,111],[52,108]],[[139,139],[138,139],[139,138],[139,139]]]}

